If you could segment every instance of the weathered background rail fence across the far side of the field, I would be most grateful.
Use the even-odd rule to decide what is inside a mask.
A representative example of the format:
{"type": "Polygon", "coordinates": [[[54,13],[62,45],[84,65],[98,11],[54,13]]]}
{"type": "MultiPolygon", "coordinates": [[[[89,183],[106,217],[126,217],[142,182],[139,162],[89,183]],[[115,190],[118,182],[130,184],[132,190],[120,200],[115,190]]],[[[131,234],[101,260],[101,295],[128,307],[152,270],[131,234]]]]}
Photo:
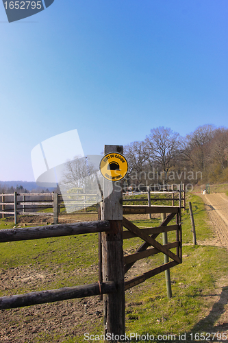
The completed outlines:
{"type": "MultiPolygon", "coordinates": [[[[151,191],[151,187],[147,187],[147,192],[127,192],[123,193],[123,202],[147,202],[147,206],[151,206],[151,202],[166,201],[170,202],[172,206],[178,205],[183,209],[186,209],[186,191],[185,185],[176,185],[177,189],[174,189],[174,185],[166,185],[166,189],[170,187],[170,191],[151,191]],[[155,198],[156,195],[164,196],[166,198],[155,198]],[[142,198],[130,198],[132,196],[140,196],[142,198]],[[146,196],[146,198],[143,198],[146,196]],[[127,199],[129,198],[129,199],[127,199]]],[[[97,204],[99,195],[97,193],[70,193],[70,194],[58,194],[58,193],[25,193],[18,194],[0,194],[0,214],[13,215],[14,224],[17,224],[17,215],[48,215],[53,216],[53,224],[58,224],[59,215],[61,209],[71,209],[71,212],[76,213],[77,209],[86,208],[91,204],[97,204]],[[42,209],[53,209],[52,212],[41,212],[42,209]],[[31,212],[33,211],[33,212],[31,212]]],[[[97,207],[97,205],[96,205],[97,207]]],[[[96,212],[98,213],[98,208],[96,212]]],[[[148,214],[151,218],[151,213],[148,214]]]]}

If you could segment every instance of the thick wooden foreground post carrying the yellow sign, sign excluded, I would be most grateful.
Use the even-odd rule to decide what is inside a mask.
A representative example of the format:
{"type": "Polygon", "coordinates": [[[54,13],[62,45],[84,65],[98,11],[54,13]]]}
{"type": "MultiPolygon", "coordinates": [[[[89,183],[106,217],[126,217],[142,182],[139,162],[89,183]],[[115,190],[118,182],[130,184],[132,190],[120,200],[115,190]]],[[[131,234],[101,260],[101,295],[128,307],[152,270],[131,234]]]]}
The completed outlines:
{"type": "MultiPolygon", "coordinates": [[[[123,146],[105,145],[104,153],[123,154],[123,146]]],[[[123,265],[122,182],[104,181],[101,220],[109,220],[111,230],[101,233],[103,282],[114,281],[117,291],[103,296],[104,335],[125,335],[125,273],[123,265]],[[112,188],[113,187],[113,188],[112,188]]]]}

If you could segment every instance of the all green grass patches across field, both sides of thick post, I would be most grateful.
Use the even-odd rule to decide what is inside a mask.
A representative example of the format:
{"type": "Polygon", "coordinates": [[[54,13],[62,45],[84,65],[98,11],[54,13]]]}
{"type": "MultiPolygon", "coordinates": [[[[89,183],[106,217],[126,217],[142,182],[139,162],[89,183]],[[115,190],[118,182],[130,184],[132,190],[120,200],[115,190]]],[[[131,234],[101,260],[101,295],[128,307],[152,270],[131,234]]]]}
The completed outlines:
{"type": "MultiPolygon", "coordinates": [[[[125,292],[127,333],[135,332],[138,335],[148,333],[155,336],[175,334],[176,342],[179,333],[186,333],[189,340],[186,338],[185,342],[191,342],[190,332],[208,332],[213,328],[214,322],[210,316],[205,318],[205,311],[212,301],[208,300],[210,294],[216,294],[216,282],[227,275],[228,255],[224,248],[203,245],[202,242],[212,239],[214,233],[201,198],[190,196],[187,204],[188,201],[192,202],[197,241],[200,241],[201,245],[192,246],[190,214],[186,209],[182,213],[183,263],[170,270],[173,298],[168,300],[166,296],[164,273],[125,292]]],[[[1,229],[14,226],[14,224],[5,224],[5,220],[0,220],[1,229]]],[[[140,227],[158,226],[160,218],[137,220],[134,224],[140,227]]],[[[169,233],[168,237],[169,241],[175,239],[172,233],[169,233]]],[[[157,237],[157,240],[161,242],[162,237],[157,237]]],[[[55,270],[57,279],[51,281],[49,289],[92,283],[98,278],[97,271],[91,269],[91,266],[97,265],[98,261],[97,241],[97,234],[90,234],[1,244],[0,270],[28,265],[39,270],[40,268],[55,270]],[[80,271],[77,279],[72,274],[75,268],[80,271]]],[[[125,239],[124,250],[134,252],[141,244],[140,238],[125,239]]],[[[153,265],[154,268],[162,263],[163,256],[159,254],[143,261],[146,268],[147,264],[153,265]]],[[[21,293],[26,291],[26,289],[11,289],[10,292],[14,294],[18,290],[21,293]]],[[[6,293],[0,292],[1,296],[6,293]]],[[[100,335],[103,331],[102,322],[91,324],[88,320],[88,328],[91,334],[100,335]]],[[[62,338],[61,342],[75,343],[75,339],[62,338]]],[[[34,343],[38,342],[54,342],[54,338],[51,333],[46,338],[40,335],[40,338],[34,340],[34,343]]],[[[85,342],[83,337],[77,337],[77,343],[80,342],[85,342]]],[[[144,341],[131,340],[131,342],[144,341]]]]}

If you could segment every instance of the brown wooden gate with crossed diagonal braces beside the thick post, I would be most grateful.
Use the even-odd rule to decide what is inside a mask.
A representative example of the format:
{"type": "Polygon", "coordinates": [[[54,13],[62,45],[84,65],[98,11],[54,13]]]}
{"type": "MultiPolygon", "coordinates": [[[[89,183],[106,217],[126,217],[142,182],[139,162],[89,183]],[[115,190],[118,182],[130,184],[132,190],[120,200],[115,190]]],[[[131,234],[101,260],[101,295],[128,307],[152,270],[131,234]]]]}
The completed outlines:
{"type": "Polygon", "coordinates": [[[180,215],[181,215],[181,208],[179,207],[172,207],[172,206],[123,206],[123,213],[124,214],[136,214],[136,213],[169,213],[168,217],[160,224],[158,227],[151,227],[151,228],[143,228],[140,229],[125,217],[123,217],[123,226],[127,228],[128,231],[123,232],[123,239],[131,238],[131,237],[140,237],[144,240],[144,243],[134,252],[134,254],[127,255],[123,258],[124,265],[125,265],[125,273],[134,265],[134,263],[140,259],[144,259],[144,257],[149,257],[155,254],[159,254],[162,252],[164,255],[167,255],[172,259],[172,261],[160,265],[149,272],[145,272],[139,276],[136,276],[134,279],[130,279],[125,281],[125,290],[139,283],[144,282],[145,280],[168,270],[175,265],[181,263],[182,261],[182,253],[181,253],[181,224],[180,224],[180,215]],[[169,225],[168,223],[176,216],[176,224],[169,225]],[[168,233],[170,231],[176,232],[176,239],[173,242],[168,244],[160,244],[156,241],[156,238],[160,233],[168,233]],[[153,248],[149,248],[153,246],[153,248]],[[149,248],[149,249],[147,249],[149,248]],[[170,249],[176,248],[176,253],[170,251],[170,249]]]}

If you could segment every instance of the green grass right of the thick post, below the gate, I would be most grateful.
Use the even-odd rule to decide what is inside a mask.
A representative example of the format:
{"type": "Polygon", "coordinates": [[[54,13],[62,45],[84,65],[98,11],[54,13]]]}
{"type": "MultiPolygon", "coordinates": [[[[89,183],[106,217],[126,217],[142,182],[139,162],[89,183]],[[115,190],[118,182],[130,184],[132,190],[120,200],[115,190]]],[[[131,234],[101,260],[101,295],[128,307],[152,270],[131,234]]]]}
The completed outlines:
{"type": "MultiPolygon", "coordinates": [[[[164,275],[151,279],[147,285],[127,294],[127,330],[129,332],[163,335],[200,330],[208,332],[213,322],[197,322],[205,313],[205,300],[215,293],[216,279],[227,272],[227,253],[214,247],[184,247],[182,265],[170,270],[173,298],[167,300],[164,275]],[[217,256],[217,259],[215,259],[217,256]],[[224,260],[221,267],[220,261],[224,260]],[[214,273],[216,270],[216,273],[214,273]],[[159,287],[157,287],[159,285],[159,287]],[[132,298],[134,295],[134,303],[132,298]],[[138,306],[140,304],[140,306],[138,306]],[[133,318],[136,320],[131,320],[133,318]]],[[[140,341],[141,342],[141,341],[140,341]]],[[[186,341],[187,342],[187,341],[186,341]]]]}

